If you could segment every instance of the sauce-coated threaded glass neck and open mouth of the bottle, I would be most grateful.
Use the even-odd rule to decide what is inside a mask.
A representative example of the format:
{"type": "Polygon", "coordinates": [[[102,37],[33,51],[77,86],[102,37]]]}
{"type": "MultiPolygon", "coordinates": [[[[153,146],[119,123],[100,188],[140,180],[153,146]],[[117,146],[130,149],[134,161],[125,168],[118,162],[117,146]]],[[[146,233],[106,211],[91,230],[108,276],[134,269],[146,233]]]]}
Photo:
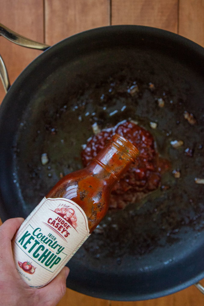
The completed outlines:
{"type": "Polygon", "coordinates": [[[118,181],[130,164],[135,161],[139,151],[124,137],[115,134],[109,145],[93,158],[89,166],[94,176],[105,180],[109,185],[118,181]]]}

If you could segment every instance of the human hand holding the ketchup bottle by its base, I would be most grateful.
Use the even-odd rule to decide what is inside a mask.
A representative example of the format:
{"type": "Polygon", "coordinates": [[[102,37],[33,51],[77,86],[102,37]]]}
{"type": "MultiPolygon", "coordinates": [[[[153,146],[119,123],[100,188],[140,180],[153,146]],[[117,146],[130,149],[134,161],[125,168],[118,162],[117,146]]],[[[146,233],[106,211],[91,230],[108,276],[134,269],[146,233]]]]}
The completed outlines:
{"type": "Polygon", "coordinates": [[[6,220],[0,226],[0,306],[55,306],[66,292],[69,268],[61,272],[45,287],[29,287],[17,272],[11,240],[24,221],[23,218],[6,220]]]}

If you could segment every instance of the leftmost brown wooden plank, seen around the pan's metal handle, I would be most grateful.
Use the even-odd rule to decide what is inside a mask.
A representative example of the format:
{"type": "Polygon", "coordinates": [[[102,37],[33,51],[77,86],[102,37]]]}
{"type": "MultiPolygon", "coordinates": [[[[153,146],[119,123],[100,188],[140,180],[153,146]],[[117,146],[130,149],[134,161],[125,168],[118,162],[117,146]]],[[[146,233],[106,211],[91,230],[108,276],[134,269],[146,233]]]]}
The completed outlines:
{"type": "MultiPolygon", "coordinates": [[[[30,39],[43,43],[44,21],[42,0],[0,0],[0,23],[30,39]]],[[[6,64],[10,83],[41,52],[22,48],[0,36],[0,54],[6,64]]],[[[5,96],[0,82],[0,101],[5,96]]]]}

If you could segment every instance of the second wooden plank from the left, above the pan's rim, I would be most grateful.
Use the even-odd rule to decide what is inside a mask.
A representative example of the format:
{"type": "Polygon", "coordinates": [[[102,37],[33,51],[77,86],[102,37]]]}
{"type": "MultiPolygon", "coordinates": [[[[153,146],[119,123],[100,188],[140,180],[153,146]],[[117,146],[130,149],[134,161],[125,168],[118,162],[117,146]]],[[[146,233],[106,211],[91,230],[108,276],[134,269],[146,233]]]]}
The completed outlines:
{"type": "Polygon", "coordinates": [[[109,25],[108,0],[45,0],[45,42],[53,45],[73,34],[109,25]]]}

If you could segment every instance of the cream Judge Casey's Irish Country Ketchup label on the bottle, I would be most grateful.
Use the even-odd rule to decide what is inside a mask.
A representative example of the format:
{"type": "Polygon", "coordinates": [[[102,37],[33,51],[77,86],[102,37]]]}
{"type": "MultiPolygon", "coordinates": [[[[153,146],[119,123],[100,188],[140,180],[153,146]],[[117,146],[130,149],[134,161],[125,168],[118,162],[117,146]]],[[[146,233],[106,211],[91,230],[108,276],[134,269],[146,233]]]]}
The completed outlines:
{"type": "Polygon", "coordinates": [[[49,283],[89,237],[87,217],[72,200],[44,198],[12,241],[17,271],[31,287],[49,283]]]}

